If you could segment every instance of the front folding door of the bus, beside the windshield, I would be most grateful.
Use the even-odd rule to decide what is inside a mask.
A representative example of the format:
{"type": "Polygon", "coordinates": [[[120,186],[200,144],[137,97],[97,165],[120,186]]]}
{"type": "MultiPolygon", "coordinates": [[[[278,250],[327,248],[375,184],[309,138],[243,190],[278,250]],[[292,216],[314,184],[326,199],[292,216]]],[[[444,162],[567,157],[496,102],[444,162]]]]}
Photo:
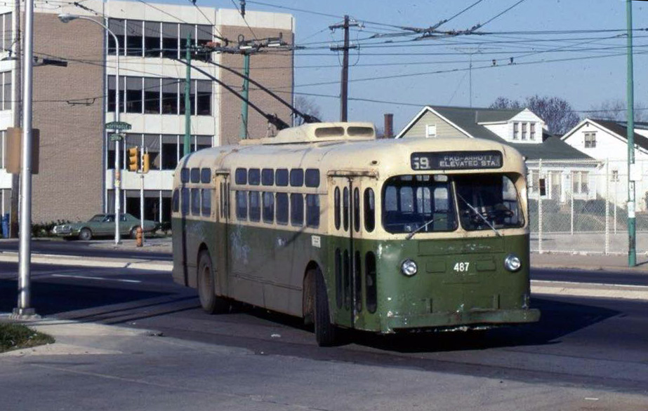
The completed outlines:
{"type": "Polygon", "coordinates": [[[329,306],[338,325],[355,326],[362,309],[362,277],[360,276],[359,187],[355,175],[329,177],[329,218],[331,247],[329,248],[329,306]]]}

